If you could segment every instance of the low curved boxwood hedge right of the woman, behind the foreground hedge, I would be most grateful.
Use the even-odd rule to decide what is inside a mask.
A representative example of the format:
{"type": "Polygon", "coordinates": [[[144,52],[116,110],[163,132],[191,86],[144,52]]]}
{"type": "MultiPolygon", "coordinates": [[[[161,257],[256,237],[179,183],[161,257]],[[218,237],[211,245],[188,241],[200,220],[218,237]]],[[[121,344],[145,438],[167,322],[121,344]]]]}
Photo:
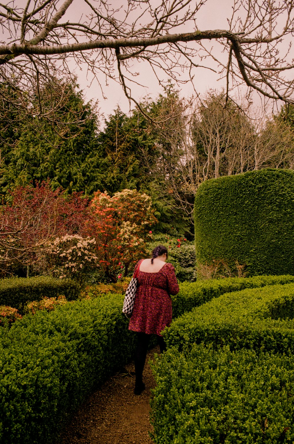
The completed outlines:
{"type": "Polygon", "coordinates": [[[294,349],[293,317],[294,284],[269,285],[223,294],[173,321],[163,334],[168,347],[179,349],[205,341],[216,348],[287,353],[294,349]]]}

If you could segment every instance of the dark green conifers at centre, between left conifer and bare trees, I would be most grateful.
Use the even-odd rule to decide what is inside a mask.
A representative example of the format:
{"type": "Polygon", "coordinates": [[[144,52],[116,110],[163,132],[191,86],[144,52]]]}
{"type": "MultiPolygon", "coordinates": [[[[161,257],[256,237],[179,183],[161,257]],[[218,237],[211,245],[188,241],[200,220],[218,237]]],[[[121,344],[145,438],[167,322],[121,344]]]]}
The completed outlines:
{"type": "MultiPolygon", "coordinates": [[[[168,102],[168,98],[160,96],[156,102],[146,105],[153,118],[161,117],[165,125],[169,119],[166,109],[168,102]]],[[[117,108],[114,115],[105,120],[105,128],[99,133],[98,142],[101,152],[105,153],[107,168],[103,186],[109,194],[125,188],[144,192],[152,198],[156,210],[156,230],[176,228],[180,233],[189,230],[191,220],[183,216],[170,184],[172,149],[160,127],[153,127],[137,111],[127,116],[117,108]]],[[[176,171],[172,168],[172,179],[175,176],[176,171]]]]}

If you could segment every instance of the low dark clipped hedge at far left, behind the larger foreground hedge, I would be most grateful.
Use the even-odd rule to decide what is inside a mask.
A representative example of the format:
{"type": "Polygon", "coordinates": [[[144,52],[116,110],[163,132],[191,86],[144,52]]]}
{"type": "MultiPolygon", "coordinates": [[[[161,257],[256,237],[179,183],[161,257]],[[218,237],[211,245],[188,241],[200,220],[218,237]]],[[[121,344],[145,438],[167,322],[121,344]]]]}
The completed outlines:
{"type": "Polygon", "coordinates": [[[12,277],[0,280],[0,305],[9,305],[24,314],[27,302],[40,301],[44,296],[57,297],[63,294],[68,301],[78,298],[80,287],[71,279],[56,279],[50,276],[12,277]]]}

